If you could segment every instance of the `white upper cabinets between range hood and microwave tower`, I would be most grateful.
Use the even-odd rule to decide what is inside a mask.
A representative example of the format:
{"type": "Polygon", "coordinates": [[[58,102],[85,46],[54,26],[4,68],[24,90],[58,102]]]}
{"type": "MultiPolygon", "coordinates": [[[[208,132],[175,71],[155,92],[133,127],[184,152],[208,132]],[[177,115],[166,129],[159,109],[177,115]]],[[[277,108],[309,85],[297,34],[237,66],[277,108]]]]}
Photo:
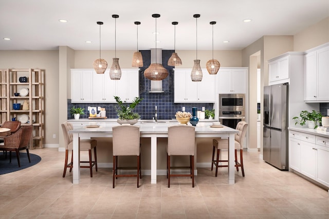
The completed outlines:
{"type": "Polygon", "coordinates": [[[192,82],[192,69],[175,69],[174,73],[174,102],[175,103],[215,103],[216,75],[208,74],[202,69],[201,82],[192,82]]]}

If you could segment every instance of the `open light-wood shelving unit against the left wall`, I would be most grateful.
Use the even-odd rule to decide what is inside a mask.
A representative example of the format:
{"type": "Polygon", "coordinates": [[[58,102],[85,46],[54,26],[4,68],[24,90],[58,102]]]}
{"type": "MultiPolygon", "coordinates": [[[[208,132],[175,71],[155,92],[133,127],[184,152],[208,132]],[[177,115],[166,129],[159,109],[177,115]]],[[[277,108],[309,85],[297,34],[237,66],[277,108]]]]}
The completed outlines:
{"type": "Polygon", "coordinates": [[[30,140],[30,149],[43,148],[44,138],[44,70],[41,69],[2,69],[0,70],[1,106],[0,122],[11,121],[16,117],[20,121],[23,114],[28,115],[27,123],[22,126],[32,125],[33,132],[30,140]],[[25,83],[19,82],[20,77],[27,77],[25,83]],[[26,96],[14,96],[22,88],[28,89],[26,96]],[[22,110],[23,102],[28,101],[29,109],[22,110]],[[20,103],[21,109],[14,110],[13,103],[20,103]]]}

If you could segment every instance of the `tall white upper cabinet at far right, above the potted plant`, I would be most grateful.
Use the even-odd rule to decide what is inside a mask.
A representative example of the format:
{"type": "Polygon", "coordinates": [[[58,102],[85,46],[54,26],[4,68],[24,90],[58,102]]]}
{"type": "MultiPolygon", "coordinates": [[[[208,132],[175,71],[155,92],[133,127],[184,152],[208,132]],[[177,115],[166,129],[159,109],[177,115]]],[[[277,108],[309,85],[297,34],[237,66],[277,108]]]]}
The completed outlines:
{"type": "Polygon", "coordinates": [[[329,44],[306,51],[304,56],[304,101],[329,101],[329,44]]]}

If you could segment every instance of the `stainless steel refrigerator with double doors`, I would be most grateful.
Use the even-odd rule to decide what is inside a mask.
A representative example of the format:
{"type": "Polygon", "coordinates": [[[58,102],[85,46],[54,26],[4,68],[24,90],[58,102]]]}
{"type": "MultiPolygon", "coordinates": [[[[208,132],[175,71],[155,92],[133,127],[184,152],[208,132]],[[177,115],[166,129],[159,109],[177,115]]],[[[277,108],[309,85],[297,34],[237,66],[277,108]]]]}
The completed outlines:
{"type": "Polygon", "coordinates": [[[264,87],[263,160],[288,170],[288,84],[264,87]]]}

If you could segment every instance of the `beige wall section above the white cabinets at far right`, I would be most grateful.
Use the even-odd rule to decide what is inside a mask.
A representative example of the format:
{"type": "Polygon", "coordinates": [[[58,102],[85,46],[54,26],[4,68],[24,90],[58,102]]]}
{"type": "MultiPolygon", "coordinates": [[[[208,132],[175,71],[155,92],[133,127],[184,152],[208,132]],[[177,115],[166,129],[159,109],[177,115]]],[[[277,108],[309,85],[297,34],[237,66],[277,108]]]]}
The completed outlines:
{"type": "Polygon", "coordinates": [[[294,36],[294,51],[305,51],[329,42],[329,17],[294,36]]]}

